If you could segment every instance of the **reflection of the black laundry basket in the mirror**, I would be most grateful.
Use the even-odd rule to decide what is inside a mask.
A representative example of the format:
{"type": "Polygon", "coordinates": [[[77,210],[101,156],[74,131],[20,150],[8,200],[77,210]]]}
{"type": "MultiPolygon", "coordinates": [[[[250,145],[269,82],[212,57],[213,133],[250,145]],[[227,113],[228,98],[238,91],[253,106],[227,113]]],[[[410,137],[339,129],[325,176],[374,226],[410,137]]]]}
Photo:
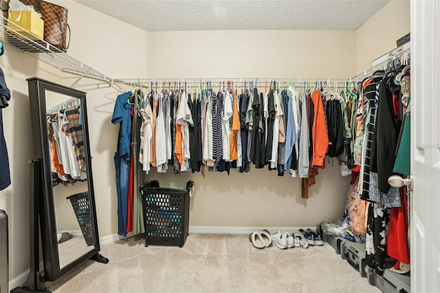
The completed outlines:
{"type": "Polygon", "coordinates": [[[72,203],[76,219],[78,219],[78,224],[80,224],[81,232],[83,232],[87,246],[94,245],[94,229],[93,223],[91,222],[89,192],[76,193],[70,195],[67,199],[70,199],[72,203]]]}

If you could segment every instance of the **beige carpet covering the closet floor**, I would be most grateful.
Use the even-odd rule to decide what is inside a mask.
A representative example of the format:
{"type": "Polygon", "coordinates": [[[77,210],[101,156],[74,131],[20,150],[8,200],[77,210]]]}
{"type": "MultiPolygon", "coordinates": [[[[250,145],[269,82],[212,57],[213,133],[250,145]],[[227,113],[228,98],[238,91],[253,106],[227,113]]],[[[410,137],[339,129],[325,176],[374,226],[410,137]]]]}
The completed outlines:
{"type": "Polygon", "coordinates": [[[325,246],[256,249],[248,235],[191,234],[184,248],[144,247],[133,237],[101,248],[52,292],[380,292],[325,246]]]}

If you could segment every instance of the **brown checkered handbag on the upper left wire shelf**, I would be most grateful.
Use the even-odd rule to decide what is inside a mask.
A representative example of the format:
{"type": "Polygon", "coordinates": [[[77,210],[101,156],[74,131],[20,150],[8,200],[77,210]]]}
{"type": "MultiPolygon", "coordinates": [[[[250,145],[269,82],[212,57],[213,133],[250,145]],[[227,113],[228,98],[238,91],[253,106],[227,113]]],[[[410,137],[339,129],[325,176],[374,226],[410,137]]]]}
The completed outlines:
{"type": "Polygon", "coordinates": [[[44,21],[43,40],[59,50],[67,52],[70,43],[70,27],[67,24],[67,9],[43,0],[20,0],[25,5],[32,5],[36,12],[41,13],[44,21]],[[67,30],[69,43],[66,43],[67,30]]]}

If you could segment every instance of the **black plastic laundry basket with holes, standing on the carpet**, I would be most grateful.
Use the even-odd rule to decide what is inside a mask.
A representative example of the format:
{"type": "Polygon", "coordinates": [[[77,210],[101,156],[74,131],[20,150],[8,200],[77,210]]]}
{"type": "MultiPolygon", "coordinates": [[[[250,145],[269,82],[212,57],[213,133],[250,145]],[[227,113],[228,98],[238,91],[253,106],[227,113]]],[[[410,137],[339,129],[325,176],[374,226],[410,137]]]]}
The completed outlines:
{"type": "Polygon", "coordinates": [[[144,208],[145,246],[170,245],[183,247],[188,237],[190,193],[186,189],[161,188],[157,180],[140,187],[144,208]]]}

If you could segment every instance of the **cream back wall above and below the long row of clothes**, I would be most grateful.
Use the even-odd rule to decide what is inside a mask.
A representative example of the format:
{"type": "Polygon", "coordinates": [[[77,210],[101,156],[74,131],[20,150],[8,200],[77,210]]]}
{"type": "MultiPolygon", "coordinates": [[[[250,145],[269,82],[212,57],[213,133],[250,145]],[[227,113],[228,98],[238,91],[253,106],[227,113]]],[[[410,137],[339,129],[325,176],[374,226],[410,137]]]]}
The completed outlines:
{"type": "MultiPolygon", "coordinates": [[[[349,77],[355,72],[354,31],[149,32],[148,78],[349,77]],[[343,44],[335,46],[331,44],[343,44]]],[[[327,161],[327,159],[326,159],[327,161]]],[[[148,175],[162,186],[195,181],[192,226],[316,226],[344,213],[349,179],[337,160],[300,195],[300,180],[276,171],[148,175]]]]}

